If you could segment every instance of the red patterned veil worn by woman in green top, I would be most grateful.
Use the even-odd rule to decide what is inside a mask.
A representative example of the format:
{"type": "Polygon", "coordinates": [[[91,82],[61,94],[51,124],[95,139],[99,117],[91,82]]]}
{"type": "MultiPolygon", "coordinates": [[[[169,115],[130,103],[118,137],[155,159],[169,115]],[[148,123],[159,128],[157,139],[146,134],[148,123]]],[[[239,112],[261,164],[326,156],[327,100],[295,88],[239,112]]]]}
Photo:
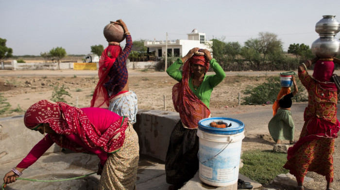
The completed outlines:
{"type": "Polygon", "coordinates": [[[188,80],[192,73],[189,63],[203,65],[205,72],[209,69],[209,62],[204,56],[193,55],[188,59],[183,65],[182,82],[172,87],[172,101],[183,125],[187,128],[197,128],[201,119],[210,116],[210,110],[189,88],[188,80]]]}

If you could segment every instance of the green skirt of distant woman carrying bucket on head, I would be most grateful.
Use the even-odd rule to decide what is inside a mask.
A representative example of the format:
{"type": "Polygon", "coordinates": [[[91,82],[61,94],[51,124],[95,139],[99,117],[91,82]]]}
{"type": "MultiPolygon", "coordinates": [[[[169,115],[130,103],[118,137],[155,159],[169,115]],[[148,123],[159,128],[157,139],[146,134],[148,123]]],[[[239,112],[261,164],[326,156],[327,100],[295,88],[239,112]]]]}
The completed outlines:
{"type": "Polygon", "coordinates": [[[268,124],[269,133],[272,139],[277,140],[294,140],[294,122],[289,110],[278,109],[268,124]]]}

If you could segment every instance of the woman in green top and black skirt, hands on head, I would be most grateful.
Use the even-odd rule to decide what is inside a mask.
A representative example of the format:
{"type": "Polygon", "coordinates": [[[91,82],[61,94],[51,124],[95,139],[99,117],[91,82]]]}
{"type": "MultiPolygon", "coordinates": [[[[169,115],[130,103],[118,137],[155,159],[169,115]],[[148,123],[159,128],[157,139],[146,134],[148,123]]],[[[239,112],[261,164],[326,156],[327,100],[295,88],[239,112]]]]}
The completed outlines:
{"type": "Polygon", "coordinates": [[[181,119],[171,132],[165,161],[167,183],[172,184],[169,189],[177,190],[198,171],[198,122],[210,117],[211,92],[225,73],[208,50],[198,47],[172,63],[167,73],[179,82],[172,88],[172,100],[181,119]],[[179,70],[182,65],[183,71],[179,70]],[[206,75],[209,65],[215,75],[206,75]]]}

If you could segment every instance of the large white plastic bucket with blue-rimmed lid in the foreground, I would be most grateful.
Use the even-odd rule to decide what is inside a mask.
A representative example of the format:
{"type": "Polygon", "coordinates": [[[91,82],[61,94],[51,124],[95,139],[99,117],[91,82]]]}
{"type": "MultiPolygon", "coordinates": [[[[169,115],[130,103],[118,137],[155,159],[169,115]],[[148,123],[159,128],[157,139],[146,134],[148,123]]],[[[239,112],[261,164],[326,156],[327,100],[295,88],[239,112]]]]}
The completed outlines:
{"type": "Polygon", "coordinates": [[[237,190],[241,158],[243,122],[226,117],[210,117],[199,121],[199,177],[202,182],[216,187],[232,186],[237,190]],[[222,121],[231,127],[210,127],[211,122],[222,121]]]}

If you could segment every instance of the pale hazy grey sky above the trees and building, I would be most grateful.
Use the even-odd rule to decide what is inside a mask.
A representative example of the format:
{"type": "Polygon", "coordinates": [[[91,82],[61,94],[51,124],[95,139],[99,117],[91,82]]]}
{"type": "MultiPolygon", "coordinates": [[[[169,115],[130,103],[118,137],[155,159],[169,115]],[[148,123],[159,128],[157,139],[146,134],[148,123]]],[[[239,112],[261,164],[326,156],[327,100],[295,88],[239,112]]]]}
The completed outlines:
{"type": "Polygon", "coordinates": [[[287,50],[293,43],[310,47],[323,15],[340,20],[340,0],[0,0],[0,38],[14,55],[53,47],[87,54],[93,45],[107,46],[103,28],[121,18],[133,40],[165,40],[166,32],[169,40],[187,39],[197,29],[208,40],[243,46],[272,32],[287,50]]]}

